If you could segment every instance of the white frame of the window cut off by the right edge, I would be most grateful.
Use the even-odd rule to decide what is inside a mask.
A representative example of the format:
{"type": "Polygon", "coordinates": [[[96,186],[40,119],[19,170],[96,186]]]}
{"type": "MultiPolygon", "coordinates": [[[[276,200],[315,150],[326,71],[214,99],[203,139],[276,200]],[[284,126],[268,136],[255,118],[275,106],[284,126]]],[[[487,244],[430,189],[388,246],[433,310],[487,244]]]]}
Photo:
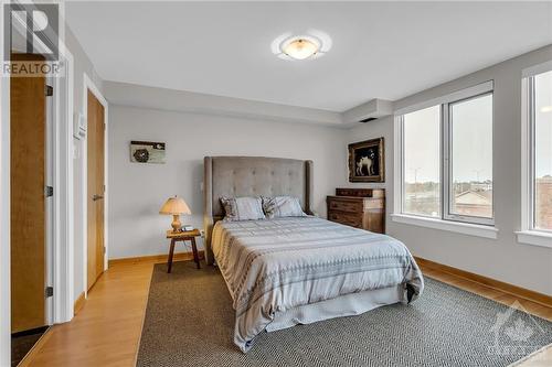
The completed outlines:
{"type": "Polygon", "coordinates": [[[522,72],[521,80],[521,230],[518,242],[552,248],[552,229],[535,227],[535,76],[552,72],[552,61],[522,72]]]}

